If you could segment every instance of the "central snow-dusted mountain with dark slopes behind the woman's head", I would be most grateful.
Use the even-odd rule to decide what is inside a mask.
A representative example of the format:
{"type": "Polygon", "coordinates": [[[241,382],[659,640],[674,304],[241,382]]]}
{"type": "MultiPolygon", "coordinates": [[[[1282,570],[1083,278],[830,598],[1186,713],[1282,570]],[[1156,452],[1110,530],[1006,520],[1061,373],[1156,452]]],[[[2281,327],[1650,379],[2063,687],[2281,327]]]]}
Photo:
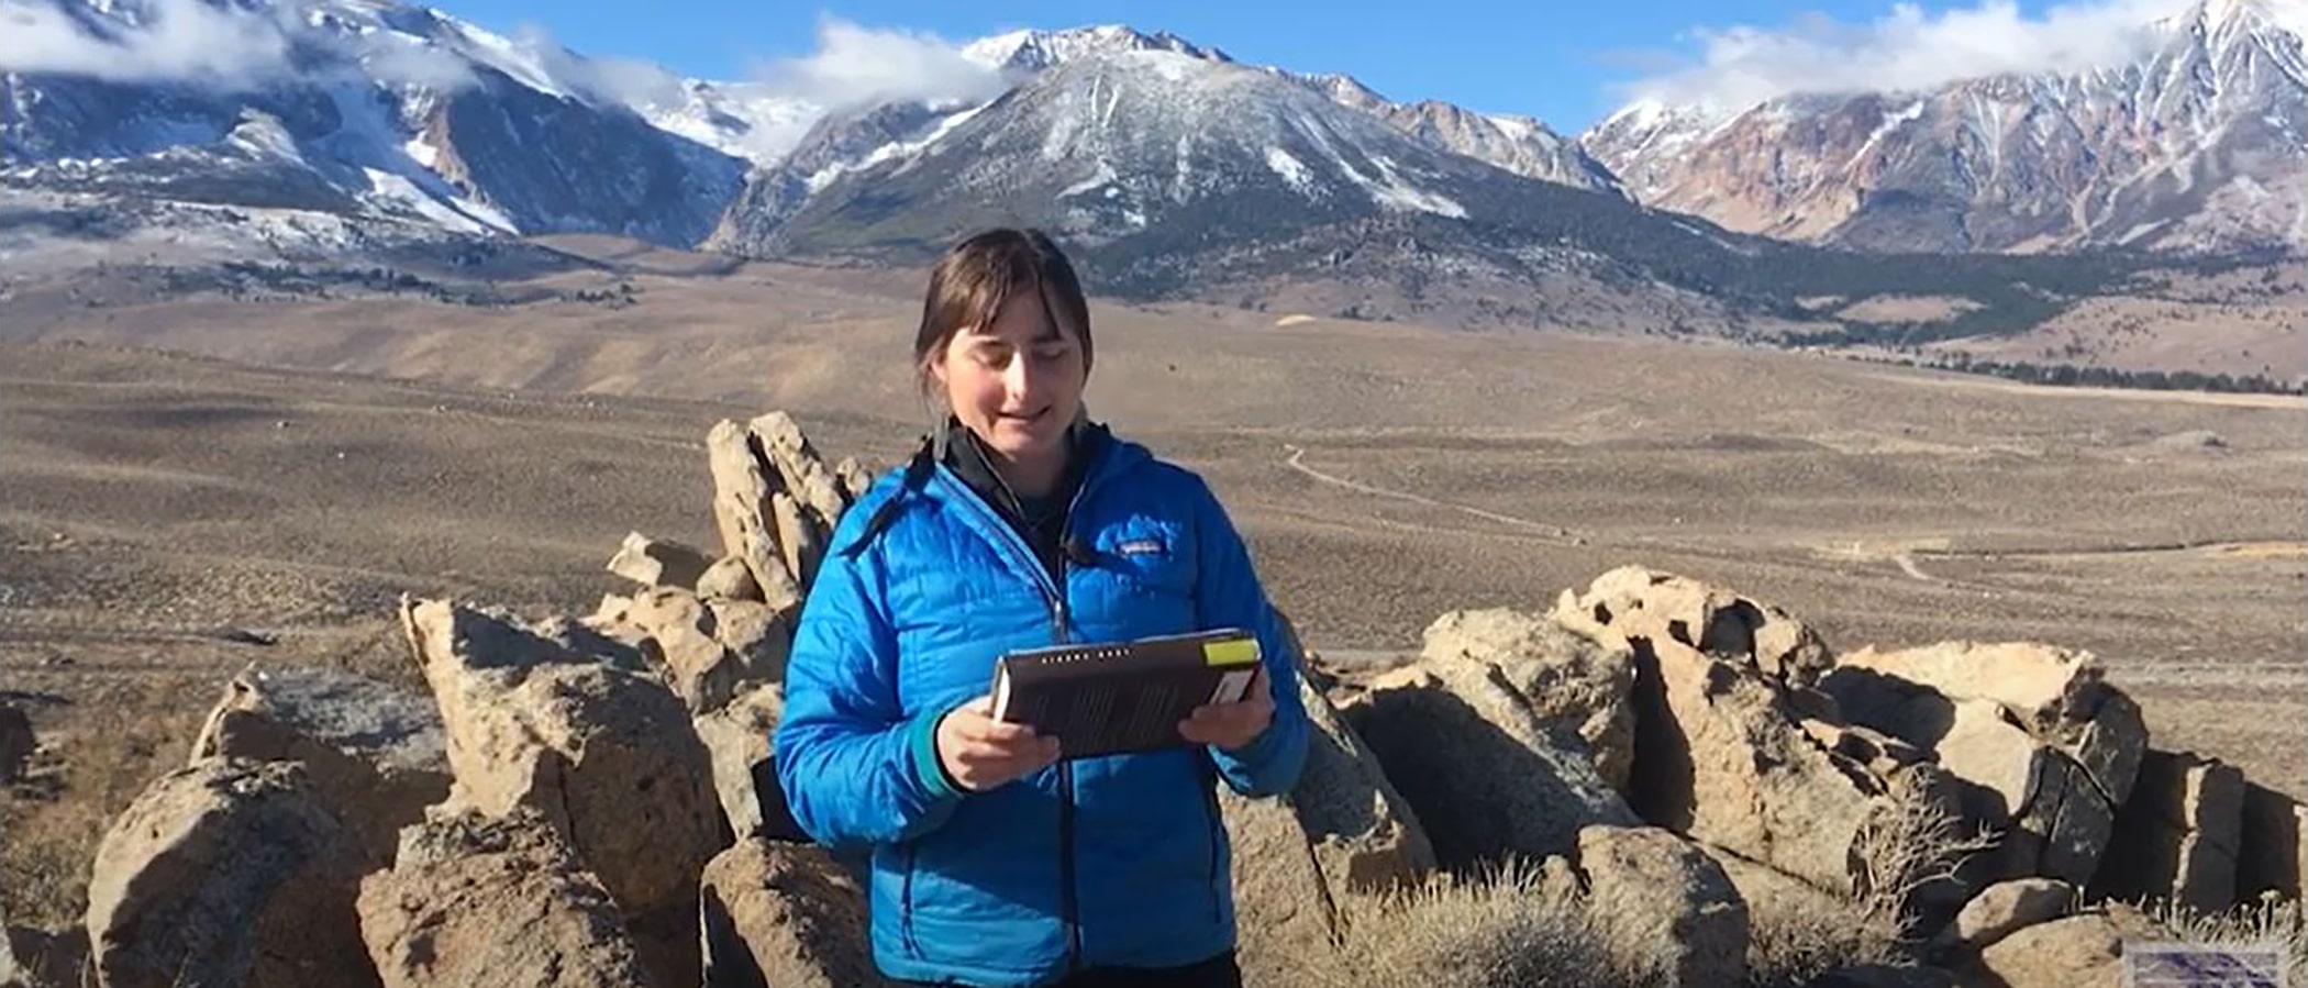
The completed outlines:
{"type": "Polygon", "coordinates": [[[1304,78],[1168,48],[1064,58],[986,106],[900,122],[902,152],[817,182],[789,169],[780,192],[757,175],[711,245],[916,263],[976,226],[1036,224],[1106,291],[1142,295],[1302,275],[1530,295],[1542,272],[1696,282],[1689,259],[1754,247],[1436,148],[1304,78]]]}

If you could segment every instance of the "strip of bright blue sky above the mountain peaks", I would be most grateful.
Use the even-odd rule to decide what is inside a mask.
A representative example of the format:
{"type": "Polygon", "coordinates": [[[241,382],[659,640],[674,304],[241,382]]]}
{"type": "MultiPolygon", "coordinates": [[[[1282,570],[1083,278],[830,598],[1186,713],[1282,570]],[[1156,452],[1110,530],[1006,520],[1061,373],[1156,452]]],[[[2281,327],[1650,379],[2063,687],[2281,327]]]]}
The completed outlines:
{"type": "MultiPolygon", "coordinates": [[[[805,58],[840,18],[872,30],[967,42],[1011,28],[1129,23],[1172,30],[1230,55],[1297,72],[1346,72],[1389,99],[1447,99],[1486,113],[1530,113],[1576,132],[1616,108],[1629,83],[1680,78],[1678,92],[1768,92],[1805,78],[1867,81],[1876,65],[1989,67],[2061,58],[2077,37],[2133,25],[2181,0],[1909,2],[1890,0],[1163,0],[831,5],[660,0],[434,0],[482,28],[542,28],[586,55],[660,62],[685,76],[748,78],[805,58]],[[1962,51],[1948,51],[1962,48],[1962,51]],[[1953,55],[1953,58],[1950,58],[1953,55]],[[1676,76],[1676,74],[1683,76],[1676,76]]],[[[1927,78],[1925,78],[1927,81],[1927,78]]]]}

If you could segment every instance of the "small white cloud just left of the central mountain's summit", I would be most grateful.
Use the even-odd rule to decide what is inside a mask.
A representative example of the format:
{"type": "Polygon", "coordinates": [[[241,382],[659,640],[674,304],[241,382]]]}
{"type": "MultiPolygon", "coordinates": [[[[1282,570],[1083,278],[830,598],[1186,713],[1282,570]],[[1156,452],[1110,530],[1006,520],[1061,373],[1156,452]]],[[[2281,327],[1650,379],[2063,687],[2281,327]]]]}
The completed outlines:
{"type": "Polygon", "coordinates": [[[937,35],[817,23],[817,51],[764,62],[755,76],[773,92],[829,108],[893,99],[990,99],[1009,88],[992,67],[937,35]]]}

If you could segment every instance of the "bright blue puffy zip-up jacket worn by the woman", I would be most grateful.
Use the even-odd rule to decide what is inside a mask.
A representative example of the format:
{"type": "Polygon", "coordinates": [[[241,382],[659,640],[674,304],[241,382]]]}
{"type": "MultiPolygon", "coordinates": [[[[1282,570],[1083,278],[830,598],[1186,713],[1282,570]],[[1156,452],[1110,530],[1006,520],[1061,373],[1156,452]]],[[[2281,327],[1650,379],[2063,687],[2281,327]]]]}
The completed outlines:
{"type": "Polygon", "coordinates": [[[835,526],[775,732],[801,829],[870,856],[875,960],[907,981],[1032,986],[1232,949],[1216,785],[1288,792],[1306,716],[1297,656],[1226,510],[1196,473],[1112,439],[1069,510],[1087,566],[1052,579],[946,464],[923,466],[882,476],[835,526]],[[1004,651],[1226,626],[1258,635],[1276,704],[1239,753],[1076,759],[981,794],[937,766],[937,718],[983,695],[1004,651]]]}

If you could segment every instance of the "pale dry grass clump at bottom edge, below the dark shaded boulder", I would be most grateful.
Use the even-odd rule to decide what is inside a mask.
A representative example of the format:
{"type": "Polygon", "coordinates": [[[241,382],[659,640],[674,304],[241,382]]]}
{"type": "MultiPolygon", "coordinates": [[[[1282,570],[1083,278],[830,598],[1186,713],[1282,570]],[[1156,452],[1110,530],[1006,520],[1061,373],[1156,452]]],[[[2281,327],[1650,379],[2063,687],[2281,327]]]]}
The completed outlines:
{"type": "MultiPolygon", "coordinates": [[[[1387,898],[1348,900],[1343,970],[1373,988],[1639,986],[1588,921],[1583,903],[1537,866],[1438,875],[1387,898]]],[[[1332,974],[1332,983],[1336,976],[1332,974]]]]}

